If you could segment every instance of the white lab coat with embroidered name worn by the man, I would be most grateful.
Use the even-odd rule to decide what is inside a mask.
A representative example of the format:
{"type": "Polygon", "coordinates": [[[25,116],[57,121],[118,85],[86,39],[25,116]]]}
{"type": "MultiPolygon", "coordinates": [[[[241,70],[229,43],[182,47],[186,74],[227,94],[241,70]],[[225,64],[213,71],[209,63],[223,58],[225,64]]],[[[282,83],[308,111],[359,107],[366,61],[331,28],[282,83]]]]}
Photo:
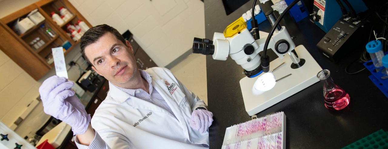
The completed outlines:
{"type": "Polygon", "coordinates": [[[92,127],[112,149],[195,149],[209,145],[208,132],[190,127],[192,111],[205,106],[166,68],[146,70],[152,85],[176,118],[165,109],[132,97],[109,82],[109,92],[92,118],[92,127]],[[172,94],[171,94],[172,93],[172,94]]]}

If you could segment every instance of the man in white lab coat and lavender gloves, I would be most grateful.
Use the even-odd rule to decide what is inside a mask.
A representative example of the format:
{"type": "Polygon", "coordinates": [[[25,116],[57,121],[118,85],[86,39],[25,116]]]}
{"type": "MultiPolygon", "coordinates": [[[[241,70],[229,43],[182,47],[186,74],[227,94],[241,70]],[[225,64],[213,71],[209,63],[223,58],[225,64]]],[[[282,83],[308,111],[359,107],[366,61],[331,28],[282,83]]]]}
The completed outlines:
{"type": "Polygon", "coordinates": [[[213,114],[168,69],[137,69],[130,43],[106,24],[90,28],[80,46],[109,81],[91,125],[72,82],[52,76],[39,88],[45,113],[72,126],[78,148],[208,147],[213,114]]]}

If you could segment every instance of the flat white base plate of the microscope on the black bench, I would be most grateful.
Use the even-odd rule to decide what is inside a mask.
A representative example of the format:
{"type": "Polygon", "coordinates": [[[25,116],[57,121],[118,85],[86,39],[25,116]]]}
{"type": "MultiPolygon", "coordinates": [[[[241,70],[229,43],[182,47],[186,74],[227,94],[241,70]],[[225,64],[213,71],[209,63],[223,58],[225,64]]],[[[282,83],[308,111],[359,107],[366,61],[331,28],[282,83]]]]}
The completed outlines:
{"type": "Polygon", "coordinates": [[[270,70],[285,62],[273,72],[275,79],[292,73],[292,75],[277,81],[274,88],[261,92],[253,87],[258,77],[264,73],[255,78],[244,77],[240,80],[242,98],[249,116],[255,115],[319,81],[317,73],[322,70],[319,64],[303,45],[296,47],[295,51],[301,59],[306,60],[306,63],[298,69],[291,68],[292,61],[289,56],[284,56],[284,59],[277,58],[270,62],[270,70]]]}

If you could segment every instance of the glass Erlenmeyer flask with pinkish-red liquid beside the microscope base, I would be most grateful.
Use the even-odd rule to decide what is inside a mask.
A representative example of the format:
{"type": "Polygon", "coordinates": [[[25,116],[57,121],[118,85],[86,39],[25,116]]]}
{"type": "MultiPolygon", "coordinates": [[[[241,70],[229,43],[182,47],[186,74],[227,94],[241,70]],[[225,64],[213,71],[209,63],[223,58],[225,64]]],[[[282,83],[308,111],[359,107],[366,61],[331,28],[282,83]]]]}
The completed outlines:
{"type": "Polygon", "coordinates": [[[341,110],[348,106],[350,102],[349,94],[334,83],[329,70],[319,71],[317,78],[323,85],[323,95],[327,109],[341,110]]]}

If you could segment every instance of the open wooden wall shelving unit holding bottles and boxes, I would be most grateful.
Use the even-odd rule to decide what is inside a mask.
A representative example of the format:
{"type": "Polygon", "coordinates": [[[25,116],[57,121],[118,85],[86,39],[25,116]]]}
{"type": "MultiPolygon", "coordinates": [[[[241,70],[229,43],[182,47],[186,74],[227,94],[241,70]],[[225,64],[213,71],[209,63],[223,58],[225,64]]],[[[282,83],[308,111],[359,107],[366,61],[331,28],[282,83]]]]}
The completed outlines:
{"type": "Polygon", "coordinates": [[[72,46],[64,52],[66,55],[79,43],[79,41],[73,41],[71,36],[66,33],[66,24],[76,24],[78,20],[82,20],[89,27],[92,27],[68,0],[40,0],[0,19],[0,36],[4,38],[4,40],[0,41],[0,49],[35,80],[39,80],[54,67],[54,64],[48,63],[48,57],[50,57],[52,48],[61,47],[64,42],[68,41],[72,46]],[[51,18],[51,12],[60,14],[59,7],[64,7],[73,14],[73,17],[60,26],[51,18]],[[38,9],[38,12],[45,17],[45,20],[36,24],[26,33],[17,35],[12,29],[17,19],[27,17],[35,9],[38,9]],[[45,33],[41,29],[42,25],[50,28],[55,36],[51,37],[45,33]],[[36,38],[44,42],[38,49],[29,44],[36,38]]]}

